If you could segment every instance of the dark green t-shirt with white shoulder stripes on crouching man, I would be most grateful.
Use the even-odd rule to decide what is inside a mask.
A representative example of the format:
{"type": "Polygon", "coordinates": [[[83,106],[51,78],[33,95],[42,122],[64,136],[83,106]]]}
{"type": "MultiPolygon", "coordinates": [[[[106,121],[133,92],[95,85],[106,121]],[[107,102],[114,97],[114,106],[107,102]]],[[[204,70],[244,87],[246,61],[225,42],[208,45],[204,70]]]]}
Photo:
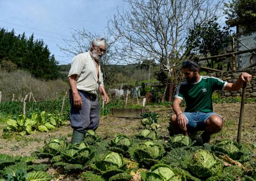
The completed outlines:
{"type": "Polygon", "coordinates": [[[201,76],[196,83],[180,83],[175,97],[185,99],[185,112],[212,112],[212,92],[224,91],[226,85],[227,82],[213,76],[201,76]]]}

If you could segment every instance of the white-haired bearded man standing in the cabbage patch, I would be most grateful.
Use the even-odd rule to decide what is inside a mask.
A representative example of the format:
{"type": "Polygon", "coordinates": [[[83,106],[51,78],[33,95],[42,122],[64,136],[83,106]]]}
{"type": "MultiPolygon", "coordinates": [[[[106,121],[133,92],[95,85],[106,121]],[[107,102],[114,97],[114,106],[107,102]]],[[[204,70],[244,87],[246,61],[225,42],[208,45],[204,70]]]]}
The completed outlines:
{"type": "Polygon", "coordinates": [[[70,83],[70,122],[73,128],[71,142],[82,142],[86,130],[96,130],[99,125],[98,91],[104,102],[109,102],[100,70],[100,58],[106,51],[105,39],[94,39],[90,50],[73,58],[68,73],[70,83]]]}

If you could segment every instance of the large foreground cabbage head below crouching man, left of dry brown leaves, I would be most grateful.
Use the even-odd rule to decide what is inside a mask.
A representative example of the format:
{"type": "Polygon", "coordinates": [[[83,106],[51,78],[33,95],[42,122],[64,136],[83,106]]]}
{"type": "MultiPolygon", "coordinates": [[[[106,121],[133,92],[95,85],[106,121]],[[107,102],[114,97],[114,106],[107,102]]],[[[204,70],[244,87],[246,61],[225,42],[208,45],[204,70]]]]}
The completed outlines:
{"type": "Polygon", "coordinates": [[[188,168],[192,173],[200,178],[211,177],[222,170],[222,163],[217,161],[209,151],[198,150],[195,152],[188,168]]]}

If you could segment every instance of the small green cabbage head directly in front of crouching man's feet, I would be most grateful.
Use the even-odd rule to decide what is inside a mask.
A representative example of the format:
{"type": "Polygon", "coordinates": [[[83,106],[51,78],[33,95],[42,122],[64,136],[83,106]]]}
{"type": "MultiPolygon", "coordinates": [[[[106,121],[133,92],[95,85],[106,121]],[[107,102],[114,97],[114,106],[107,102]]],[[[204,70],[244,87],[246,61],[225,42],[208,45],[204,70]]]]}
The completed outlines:
{"type": "Polygon", "coordinates": [[[176,147],[190,146],[191,142],[192,141],[189,138],[189,136],[184,136],[183,134],[177,134],[175,136],[170,137],[168,144],[172,148],[176,148],[176,147]]]}

